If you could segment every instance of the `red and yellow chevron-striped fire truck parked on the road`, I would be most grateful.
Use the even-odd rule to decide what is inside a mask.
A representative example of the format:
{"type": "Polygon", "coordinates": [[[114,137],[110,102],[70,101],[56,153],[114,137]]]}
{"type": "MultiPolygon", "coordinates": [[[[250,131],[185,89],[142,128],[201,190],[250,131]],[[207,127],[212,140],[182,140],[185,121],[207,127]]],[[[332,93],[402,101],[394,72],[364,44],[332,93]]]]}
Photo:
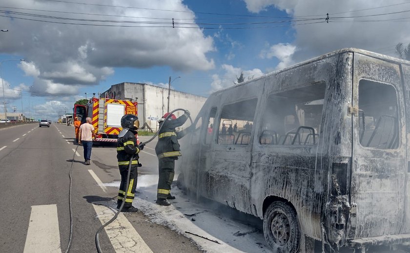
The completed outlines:
{"type": "Polygon", "coordinates": [[[125,114],[137,115],[137,102],[122,99],[92,97],[87,105],[74,105],[74,117],[78,117],[81,124],[85,118],[92,119],[97,138],[94,142],[116,142],[118,134],[123,129],[121,118],[125,114]]]}

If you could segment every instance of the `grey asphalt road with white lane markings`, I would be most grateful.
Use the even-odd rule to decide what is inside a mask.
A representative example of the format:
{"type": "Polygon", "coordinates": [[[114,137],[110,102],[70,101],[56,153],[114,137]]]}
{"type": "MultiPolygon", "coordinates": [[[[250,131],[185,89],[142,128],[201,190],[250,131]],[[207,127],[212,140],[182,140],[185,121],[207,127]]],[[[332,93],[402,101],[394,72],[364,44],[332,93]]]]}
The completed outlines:
{"type": "MultiPolygon", "coordinates": [[[[94,146],[87,166],[82,146],[77,149],[80,156],[73,151],[77,148],[73,140],[74,127],[60,124],[0,129],[0,252],[66,251],[71,166],[74,225],[70,252],[97,252],[95,233],[104,220],[102,214],[108,218],[114,214],[118,192],[97,180],[120,180],[116,148],[94,146]]],[[[139,175],[158,174],[154,146],[155,141],[140,153],[143,167],[139,175]]],[[[100,235],[103,252],[201,252],[189,239],[151,223],[141,212],[119,218],[119,227],[107,227],[100,235]]]]}

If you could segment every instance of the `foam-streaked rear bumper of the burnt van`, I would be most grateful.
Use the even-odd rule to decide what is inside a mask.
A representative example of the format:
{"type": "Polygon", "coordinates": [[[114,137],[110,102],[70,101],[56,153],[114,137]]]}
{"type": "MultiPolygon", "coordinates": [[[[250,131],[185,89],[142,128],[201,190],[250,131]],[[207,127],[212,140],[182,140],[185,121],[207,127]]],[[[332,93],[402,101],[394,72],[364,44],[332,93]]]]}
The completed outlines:
{"type": "Polygon", "coordinates": [[[377,245],[410,245],[410,234],[347,239],[346,244],[352,248],[365,248],[377,245]]]}

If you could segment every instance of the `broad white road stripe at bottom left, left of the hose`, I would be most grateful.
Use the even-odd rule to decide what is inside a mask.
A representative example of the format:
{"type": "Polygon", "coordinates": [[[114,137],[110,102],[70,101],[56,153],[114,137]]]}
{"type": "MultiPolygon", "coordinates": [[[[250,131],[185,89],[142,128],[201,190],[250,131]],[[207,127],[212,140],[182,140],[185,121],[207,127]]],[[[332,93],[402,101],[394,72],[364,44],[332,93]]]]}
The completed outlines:
{"type": "Polygon", "coordinates": [[[24,253],[61,253],[57,205],[31,207],[24,253]]]}

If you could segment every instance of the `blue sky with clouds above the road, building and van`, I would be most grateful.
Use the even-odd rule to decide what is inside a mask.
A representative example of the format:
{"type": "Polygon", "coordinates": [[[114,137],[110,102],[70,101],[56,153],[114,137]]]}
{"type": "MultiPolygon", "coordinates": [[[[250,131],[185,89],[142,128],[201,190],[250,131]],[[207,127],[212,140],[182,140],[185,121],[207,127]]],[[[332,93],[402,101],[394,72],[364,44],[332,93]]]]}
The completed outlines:
{"type": "Polygon", "coordinates": [[[347,47],[394,56],[409,22],[410,0],[0,0],[0,114],[5,101],[8,116],[57,120],[111,85],[169,76],[206,97],[347,47]]]}

